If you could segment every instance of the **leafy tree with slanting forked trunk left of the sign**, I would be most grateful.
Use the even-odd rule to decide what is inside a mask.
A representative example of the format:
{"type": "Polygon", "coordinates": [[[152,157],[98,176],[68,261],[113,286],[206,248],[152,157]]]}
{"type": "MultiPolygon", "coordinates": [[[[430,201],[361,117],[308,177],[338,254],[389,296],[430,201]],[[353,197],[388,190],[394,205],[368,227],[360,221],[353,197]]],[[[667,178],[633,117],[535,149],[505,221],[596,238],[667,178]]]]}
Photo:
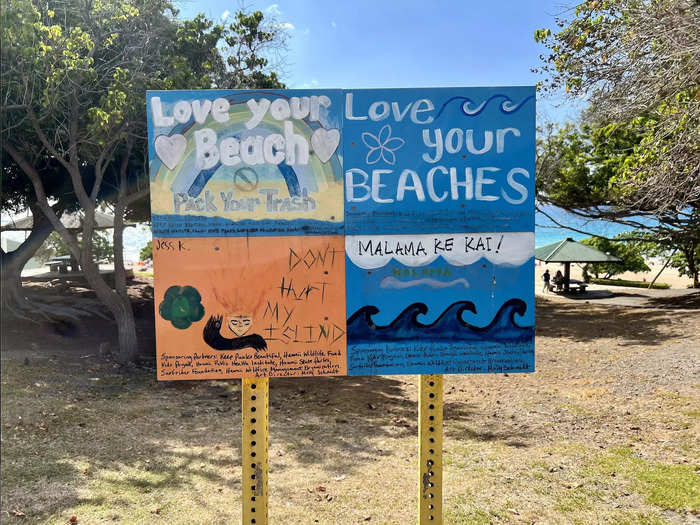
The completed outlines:
{"type": "Polygon", "coordinates": [[[148,194],[146,89],[237,87],[228,82],[238,78],[280,86],[260,56],[279,33],[264,28],[261,13],[239,13],[228,27],[202,15],[179,22],[175,14],[165,0],[15,0],[0,13],[3,150],[114,316],[122,363],[138,351],[122,234],[127,210],[148,194]],[[228,60],[223,46],[242,62],[228,60]],[[95,246],[80,243],[51,208],[37,168],[45,158],[58,162],[56,177],[70,181],[84,213],[83,239],[92,239],[99,204],[112,203],[114,289],[99,273],[95,246]]]}

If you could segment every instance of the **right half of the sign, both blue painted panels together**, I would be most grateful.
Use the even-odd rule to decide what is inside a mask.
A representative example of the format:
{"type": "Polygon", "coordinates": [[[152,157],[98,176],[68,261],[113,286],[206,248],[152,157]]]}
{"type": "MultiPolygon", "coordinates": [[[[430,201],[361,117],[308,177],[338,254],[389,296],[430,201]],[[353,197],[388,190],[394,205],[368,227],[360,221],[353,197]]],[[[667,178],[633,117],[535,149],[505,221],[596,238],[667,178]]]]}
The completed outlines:
{"type": "Polygon", "coordinates": [[[534,370],[534,99],[345,93],[349,374],[534,370]]]}

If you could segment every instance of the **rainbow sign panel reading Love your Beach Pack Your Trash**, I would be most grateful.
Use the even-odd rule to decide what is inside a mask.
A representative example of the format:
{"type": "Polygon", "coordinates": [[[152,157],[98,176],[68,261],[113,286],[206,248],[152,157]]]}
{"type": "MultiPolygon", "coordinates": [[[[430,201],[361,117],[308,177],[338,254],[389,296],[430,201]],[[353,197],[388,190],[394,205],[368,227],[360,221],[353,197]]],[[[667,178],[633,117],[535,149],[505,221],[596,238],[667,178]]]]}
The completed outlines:
{"type": "Polygon", "coordinates": [[[156,237],[343,233],[342,93],[152,91],[156,237]]]}

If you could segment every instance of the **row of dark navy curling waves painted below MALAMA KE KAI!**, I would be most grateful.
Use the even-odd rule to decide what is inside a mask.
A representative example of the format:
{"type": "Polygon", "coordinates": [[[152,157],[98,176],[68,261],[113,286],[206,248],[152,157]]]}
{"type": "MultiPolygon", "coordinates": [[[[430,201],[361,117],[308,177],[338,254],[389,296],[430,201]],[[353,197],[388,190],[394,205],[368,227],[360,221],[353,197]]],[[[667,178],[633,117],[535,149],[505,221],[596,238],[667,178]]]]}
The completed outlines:
{"type": "Polygon", "coordinates": [[[509,299],[498,310],[488,326],[473,326],[462,319],[466,311],[476,313],[471,301],[457,301],[445,309],[434,322],[423,324],[419,315],[426,314],[424,303],[413,303],[404,309],[390,324],[378,326],[372,317],[379,313],[376,306],[363,306],[350,316],[347,324],[348,344],[397,342],[397,341],[455,341],[516,343],[532,340],[532,326],[522,327],[515,315],[523,315],[527,305],[521,299],[509,299]]]}

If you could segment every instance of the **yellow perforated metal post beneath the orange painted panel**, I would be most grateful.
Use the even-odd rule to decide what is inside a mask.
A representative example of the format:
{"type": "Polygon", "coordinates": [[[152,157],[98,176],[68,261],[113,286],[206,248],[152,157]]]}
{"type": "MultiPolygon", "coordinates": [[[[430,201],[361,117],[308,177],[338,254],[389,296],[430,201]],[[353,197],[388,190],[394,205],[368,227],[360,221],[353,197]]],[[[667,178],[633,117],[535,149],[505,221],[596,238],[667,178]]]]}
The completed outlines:
{"type": "Polygon", "coordinates": [[[267,525],[268,378],[243,379],[243,509],[244,525],[267,525]]]}

